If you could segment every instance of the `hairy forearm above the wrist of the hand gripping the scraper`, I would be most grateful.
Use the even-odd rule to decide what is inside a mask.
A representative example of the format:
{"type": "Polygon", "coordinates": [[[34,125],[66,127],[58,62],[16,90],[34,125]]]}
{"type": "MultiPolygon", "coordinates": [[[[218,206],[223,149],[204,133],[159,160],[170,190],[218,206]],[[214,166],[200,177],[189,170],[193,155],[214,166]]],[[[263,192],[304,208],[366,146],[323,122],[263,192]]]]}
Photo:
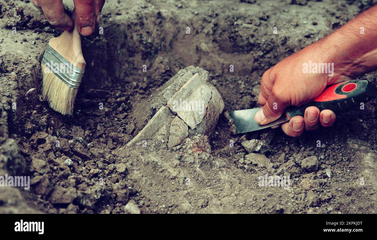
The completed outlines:
{"type": "MultiPolygon", "coordinates": [[[[318,42],[339,75],[355,77],[377,70],[377,6],[359,14],[318,42]]],[[[335,79],[336,81],[337,79],[335,79]]]]}

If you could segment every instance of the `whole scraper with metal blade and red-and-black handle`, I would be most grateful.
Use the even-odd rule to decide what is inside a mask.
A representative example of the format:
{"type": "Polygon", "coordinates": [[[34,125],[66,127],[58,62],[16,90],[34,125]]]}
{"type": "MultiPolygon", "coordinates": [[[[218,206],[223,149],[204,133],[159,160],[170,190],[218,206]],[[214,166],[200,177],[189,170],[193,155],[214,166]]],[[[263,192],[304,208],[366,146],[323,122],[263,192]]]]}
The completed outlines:
{"type": "Polygon", "coordinates": [[[335,113],[345,112],[356,107],[364,109],[361,106],[371,100],[373,93],[374,86],[371,82],[367,80],[349,80],[328,86],[313,102],[298,107],[288,107],[285,110],[285,114],[266,125],[259,125],[254,121],[255,113],[261,108],[231,111],[229,115],[234,121],[236,134],[253,132],[287,122],[297,115],[303,116],[305,109],[309,106],[316,106],[319,111],[329,109],[335,113]]]}

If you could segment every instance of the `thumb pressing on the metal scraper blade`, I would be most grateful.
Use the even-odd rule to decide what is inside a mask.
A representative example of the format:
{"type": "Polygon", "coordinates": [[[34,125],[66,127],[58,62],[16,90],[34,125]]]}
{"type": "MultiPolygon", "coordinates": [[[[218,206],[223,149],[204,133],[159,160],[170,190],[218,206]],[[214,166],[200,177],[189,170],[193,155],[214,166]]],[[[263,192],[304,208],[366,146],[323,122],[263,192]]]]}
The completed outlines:
{"type": "Polygon", "coordinates": [[[254,115],[254,120],[260,125],[273,122],[285,112],[287,106],[288,104],[272,91],[267,103],[254,115]]]}

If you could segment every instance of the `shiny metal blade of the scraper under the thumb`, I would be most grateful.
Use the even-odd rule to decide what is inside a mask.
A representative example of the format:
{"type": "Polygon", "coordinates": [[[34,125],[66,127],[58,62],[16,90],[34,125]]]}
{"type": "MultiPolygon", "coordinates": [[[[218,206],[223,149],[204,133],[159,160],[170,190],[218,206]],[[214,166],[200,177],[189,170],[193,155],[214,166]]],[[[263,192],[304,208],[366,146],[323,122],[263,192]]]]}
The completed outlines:
{"type": "Polygon", "coordinates": [[[253,132],[289,121],[287,116],[283,114],[274,122],[267,123],[266,125],[259,125],[254,121],[254,115],[259,109],[261,108],[251,108],[229,112],[230,117],[234,121],[234,126],[236,126],[236,134],[253,132]]]}

